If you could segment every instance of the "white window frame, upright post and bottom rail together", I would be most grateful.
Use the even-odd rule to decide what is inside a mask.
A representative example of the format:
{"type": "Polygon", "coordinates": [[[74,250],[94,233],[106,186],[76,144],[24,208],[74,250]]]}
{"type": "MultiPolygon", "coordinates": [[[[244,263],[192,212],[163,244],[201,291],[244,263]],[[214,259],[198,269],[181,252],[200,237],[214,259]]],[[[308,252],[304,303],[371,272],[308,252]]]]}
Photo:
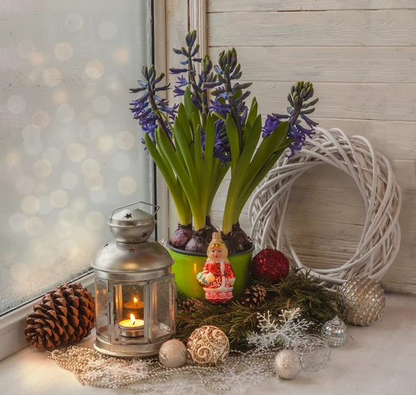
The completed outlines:
{"type": "MultiPolygon", "coordinates": [[[[158,72],[167,74],[166,67],[166,0],[153,0],[153,57],[158,72]]],[[[168,239],[169,199],[168,188],[159,171],[155,171],[155,200],[160,206],[157,213],[157,239],[168,239]]],[[[82,283],[95,293],[94,274],[90,273],[72,283],[82,283]]],[[[0,361],[26,348],[24,337],[26,315],[33,312],[33,305],[42,301],[43,295],[0,317],[0,361]]]]}

